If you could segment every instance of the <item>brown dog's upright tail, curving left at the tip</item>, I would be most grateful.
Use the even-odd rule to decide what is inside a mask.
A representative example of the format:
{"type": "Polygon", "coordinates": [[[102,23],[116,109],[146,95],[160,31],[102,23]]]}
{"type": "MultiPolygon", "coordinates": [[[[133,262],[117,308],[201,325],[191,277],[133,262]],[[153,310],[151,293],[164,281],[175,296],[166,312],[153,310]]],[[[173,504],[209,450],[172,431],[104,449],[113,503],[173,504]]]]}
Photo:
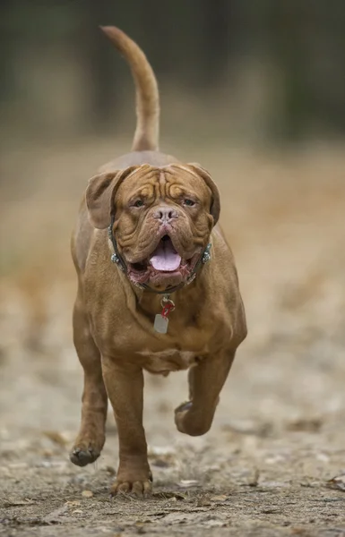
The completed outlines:
{"type": "Polygon", "coordinates": [[[125,56],[131,67],[136,90],[136,129],[134,151],[157,150],[160,131],[160,94],[154,72],[142,49],[115,26],[101,30],[125,56]]]}

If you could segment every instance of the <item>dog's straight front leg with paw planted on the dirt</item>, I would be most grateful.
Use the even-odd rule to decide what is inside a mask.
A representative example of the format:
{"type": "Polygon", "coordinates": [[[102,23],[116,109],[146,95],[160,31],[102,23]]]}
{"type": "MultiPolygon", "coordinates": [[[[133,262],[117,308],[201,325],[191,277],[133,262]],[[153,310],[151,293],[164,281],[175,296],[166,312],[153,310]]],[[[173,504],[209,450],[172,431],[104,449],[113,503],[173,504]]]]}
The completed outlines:
{"type": "Polygon", "coordinates": [[[102,370],[119,441],[119,466],[112,493],[147,495],[151,492],[152,478],[142,426],[142,369],[111,358],[102,358],[102,370]]]}

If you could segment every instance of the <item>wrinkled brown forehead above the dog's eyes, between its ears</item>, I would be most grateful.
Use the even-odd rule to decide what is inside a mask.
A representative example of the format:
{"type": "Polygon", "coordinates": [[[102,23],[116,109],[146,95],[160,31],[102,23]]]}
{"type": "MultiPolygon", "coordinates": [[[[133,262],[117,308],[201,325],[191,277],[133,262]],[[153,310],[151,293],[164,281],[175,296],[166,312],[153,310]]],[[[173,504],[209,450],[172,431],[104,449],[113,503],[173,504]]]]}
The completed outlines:
{"type": "Polygon", "coordinates": [[[135,193],[146,196],[178,196],[184,192],[207,195],[203,179],[183,165],[153,167],[138,166],[118,188],[118,196],[130,198],[135,193]]]}

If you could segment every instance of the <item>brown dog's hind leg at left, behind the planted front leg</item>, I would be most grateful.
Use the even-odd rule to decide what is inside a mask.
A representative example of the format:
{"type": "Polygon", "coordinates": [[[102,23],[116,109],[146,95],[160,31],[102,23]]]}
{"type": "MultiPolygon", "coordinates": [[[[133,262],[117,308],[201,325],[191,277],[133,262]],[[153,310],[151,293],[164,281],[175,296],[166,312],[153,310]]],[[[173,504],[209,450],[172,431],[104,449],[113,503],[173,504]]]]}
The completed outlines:
{"type": "Polygon", "coordinates": [[[91,336],[89,320],[78,294],[73,310],[73,341],[84,370],[82,423],[70,459],[74,465],[93,463],[105,442],[108,396],[102,377],[100,354],[91,336]]]}

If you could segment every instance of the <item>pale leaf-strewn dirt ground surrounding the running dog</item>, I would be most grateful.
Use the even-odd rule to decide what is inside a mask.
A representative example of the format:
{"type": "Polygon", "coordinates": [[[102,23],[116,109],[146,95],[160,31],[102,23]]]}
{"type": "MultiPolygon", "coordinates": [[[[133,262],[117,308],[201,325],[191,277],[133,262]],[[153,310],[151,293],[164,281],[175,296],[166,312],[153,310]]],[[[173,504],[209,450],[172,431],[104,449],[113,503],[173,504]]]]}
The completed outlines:
{"type": "MultiPolygon", "coordinates": [[[[85,153],[73,157],[73,166],[85,153]]],[[[47,278],[39,272],[46,257],[34,275],[4,274],[0,534],[345,536],[345,481],[329,482],[345,473],[344,161],[309,155],[274,163],[219,152],[207,166],[217,163],[223,177],[229,158],[236,176],[219,182],[223,210],[232,209],[225,228],[237,254],[249,337],[205,437],[175,430],[185,373],[146,377],[152,499],[108,497],[117,464],[111,415],[97,465],[69,463],[82,389],[71,344],[72,270],[47,278]]],[[[60,168],[71,169],[70,159],[61,153],[60,168]]],[[[73,188],[82,192],[82,180],[73,188]]],[[[25,217],[37,200],[3,213],[6,244],[16,211],[25,217]]],[[[51,209],[56,229],[62,208],[72,219],[73,204],[64,203],[51,209]]],[[[26,240],[35,226],[23,230],[26,240]]],[[[64,234],[58,236],[66,244],[64,234]]]]}

